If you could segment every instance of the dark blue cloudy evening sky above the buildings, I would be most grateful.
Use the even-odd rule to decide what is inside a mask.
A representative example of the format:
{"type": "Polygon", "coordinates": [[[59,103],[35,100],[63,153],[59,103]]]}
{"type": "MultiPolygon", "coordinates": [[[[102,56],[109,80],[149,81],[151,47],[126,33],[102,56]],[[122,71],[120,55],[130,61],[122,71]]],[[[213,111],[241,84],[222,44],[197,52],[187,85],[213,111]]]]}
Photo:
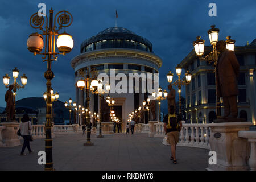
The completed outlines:
{"type": "MultiPolygon", "coordinates": [[[[18,67],[20,76],[26,73],[27,85],[17,92],[16,100],[25,97],[42,97],[46,91],[43,73],[47,65],[42,56],[34,56],[27,50],[27,38],[36,30],[30,27],[29,19],[38,11],[38,3],[46,3],[47,15],[51,7],[55,14],[67,10],[73,15],[73,23],[66,31],[72,35],[74,47],[66,56],[52,63],[55,78],[52,88],[59,92],[61,101],[75,99],[74,72],[70,62],[79,55],[80,44],[108,27],[115,26],[115,10],[118,12],[117,26],[125,27],[135,34],[150,40],[153,51],[163,60],[160,68],[160,85],[167,89],[166,74],[175,73],[175,67],[193,49],[192,42],[201,36],[209,45],[207,31],[210,25],[220,28],[219,39],[232,36],[237,46],[251,43],[256,31],[256,1],[2,1],[0,7],[0,106],[5,107],[5,86],[2,76],[8,73],[13,83],[12,69],[18,67]],[[216,3],[217,17],[209,17],[209,3],[216,3]]],[[[64,30],[60,31],[63,32],[64,30]]],[[[39,31],[40,32],[40,31],[39,31]]],[[[183,70],[183,76],[184,76],[183,70]]],[[[176,75],[176,74],[175,74],[176,75]]],[[[174,77],[174,81],[177,77],[174,77]]],[[[176,89],[176,88],[175,88],[176,89]]],[[[183,89],[183,95],[185,94],[183,89]]],[[[178,95],[178,94],[177,94],[178,95]]],[[[176,98],[177,100],[177,98],[176,98]]],[[[167,101],[163,101],[167,107],[167,101]]]]}

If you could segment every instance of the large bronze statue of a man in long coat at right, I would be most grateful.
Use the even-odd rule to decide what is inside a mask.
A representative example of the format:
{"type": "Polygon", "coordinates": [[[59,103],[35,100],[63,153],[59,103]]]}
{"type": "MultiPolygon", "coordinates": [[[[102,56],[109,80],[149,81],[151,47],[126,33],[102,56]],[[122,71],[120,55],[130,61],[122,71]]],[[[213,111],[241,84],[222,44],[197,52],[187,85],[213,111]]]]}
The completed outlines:
{"type": "Polygon", "coordinates": [[[226,49],[226,42],[220,40],[216,44],[220,52],[216,65],[217,97],[223,97],[224,116],[222,118],[237,118],[237,79],[239,63],[233,51],[226,49]]]}

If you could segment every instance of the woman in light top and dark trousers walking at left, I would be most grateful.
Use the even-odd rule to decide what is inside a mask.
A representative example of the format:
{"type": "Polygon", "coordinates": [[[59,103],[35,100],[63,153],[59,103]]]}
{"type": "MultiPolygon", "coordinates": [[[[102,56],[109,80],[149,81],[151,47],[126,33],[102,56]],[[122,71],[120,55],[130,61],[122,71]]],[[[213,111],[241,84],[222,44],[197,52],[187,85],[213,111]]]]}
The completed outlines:
{"type": "Polygon", "coordinates": [[[29,117],[27,114],[24,114],[22,117],[22,122],[19,123],[19,129],[20,129],[20,133],[24,139],[24,143],[23,143],[23,147],[22,147],[22,151],[20,152],[20,155],[26,155],[24,154],[24,151],[27,147],[28,151],[31,153],[33,150],[31,150],[30,148],[30,140],[31,140],[31,130],[32,130],[32,124],[29,121],[29,117]]]}

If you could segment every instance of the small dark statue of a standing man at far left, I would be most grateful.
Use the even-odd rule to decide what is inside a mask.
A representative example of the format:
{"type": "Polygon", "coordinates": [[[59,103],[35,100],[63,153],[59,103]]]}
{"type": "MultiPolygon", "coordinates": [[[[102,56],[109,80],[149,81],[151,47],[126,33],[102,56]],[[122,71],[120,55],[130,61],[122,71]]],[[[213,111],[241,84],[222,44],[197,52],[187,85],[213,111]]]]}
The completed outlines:
{"type": "Polygon", "coordinates": [[[6,115],[7,115],[7,121],[14,121],[14,100],[13,100],[13,90],[14,85],[9,85],[9,90],[5,93],[5,101],[6,101],[6,115]]]}

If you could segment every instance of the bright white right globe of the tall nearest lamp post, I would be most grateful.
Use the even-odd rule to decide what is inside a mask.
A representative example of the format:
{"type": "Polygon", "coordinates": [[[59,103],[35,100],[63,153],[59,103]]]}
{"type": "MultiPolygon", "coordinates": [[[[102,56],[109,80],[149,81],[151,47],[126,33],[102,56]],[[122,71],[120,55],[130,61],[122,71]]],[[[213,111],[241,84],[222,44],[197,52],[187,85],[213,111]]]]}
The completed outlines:
{"type": "Polygon", "coordinates": [[[61,53],[69,53],[74,46],[72,36],[64,32],[60,34],[57,39],[57,47],[61,53]]]}

